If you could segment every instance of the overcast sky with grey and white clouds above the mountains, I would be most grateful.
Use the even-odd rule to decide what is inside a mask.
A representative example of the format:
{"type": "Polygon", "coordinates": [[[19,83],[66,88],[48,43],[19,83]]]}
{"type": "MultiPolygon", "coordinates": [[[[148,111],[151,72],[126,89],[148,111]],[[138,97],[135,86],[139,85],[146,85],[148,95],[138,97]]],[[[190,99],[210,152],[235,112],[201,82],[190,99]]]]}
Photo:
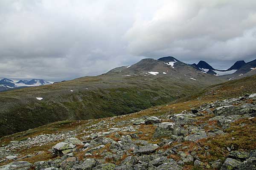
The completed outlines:
{"type": "Polygon", "coordinates": [[[59,81],[164,56],[256,59],[256,0],[0,0],[0,77],[59,81]]]}

